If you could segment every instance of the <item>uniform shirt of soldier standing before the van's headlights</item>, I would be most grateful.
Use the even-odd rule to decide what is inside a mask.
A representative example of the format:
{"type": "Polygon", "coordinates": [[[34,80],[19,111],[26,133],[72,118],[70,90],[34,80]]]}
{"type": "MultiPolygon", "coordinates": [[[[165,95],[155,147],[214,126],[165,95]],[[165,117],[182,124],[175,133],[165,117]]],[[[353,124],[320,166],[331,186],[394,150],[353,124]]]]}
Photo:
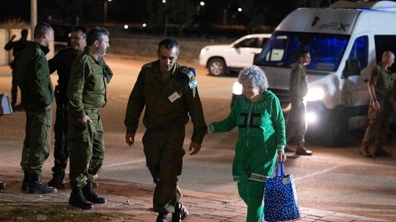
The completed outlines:
{"type": "Polygon", "coordinates": [[[295,63],[290,72],[289,92],[292,102],[302,100],[308,93],[307,70],[300,63],[295,63]]]}

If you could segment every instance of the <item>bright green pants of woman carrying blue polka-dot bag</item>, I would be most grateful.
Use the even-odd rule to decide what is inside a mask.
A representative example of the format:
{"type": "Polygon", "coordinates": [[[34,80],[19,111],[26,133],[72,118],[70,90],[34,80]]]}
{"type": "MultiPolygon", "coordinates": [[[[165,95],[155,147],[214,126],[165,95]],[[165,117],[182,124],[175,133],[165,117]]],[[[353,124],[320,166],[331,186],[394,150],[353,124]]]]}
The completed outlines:
{"type": "Polygon", "coordinates": [[[262,181],[239,177],[238,192],[247,205],[246,222],[261,222],[264,217],[264,185],[262,181]]]}

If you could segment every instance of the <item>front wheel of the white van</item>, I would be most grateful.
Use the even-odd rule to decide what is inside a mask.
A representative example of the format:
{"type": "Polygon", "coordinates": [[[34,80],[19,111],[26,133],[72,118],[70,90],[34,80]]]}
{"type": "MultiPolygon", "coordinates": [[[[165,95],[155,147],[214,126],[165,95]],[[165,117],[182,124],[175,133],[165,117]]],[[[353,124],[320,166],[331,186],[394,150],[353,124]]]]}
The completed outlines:
{"type": "Polygon", "coordinates": [[[326,147],[347,145],[349,114],[345,107],[336,107],[329,112],[328,121],[322,131],[322,142],[326,147]]]}

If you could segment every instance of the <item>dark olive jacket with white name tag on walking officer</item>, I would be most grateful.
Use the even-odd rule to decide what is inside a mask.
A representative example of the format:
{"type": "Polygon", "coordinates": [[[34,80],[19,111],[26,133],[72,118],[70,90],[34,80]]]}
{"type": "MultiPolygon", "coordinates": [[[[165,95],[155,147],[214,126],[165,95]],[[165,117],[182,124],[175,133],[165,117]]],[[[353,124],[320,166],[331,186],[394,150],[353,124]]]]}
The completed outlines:
{"type": "Polygon", "coordinates": [[[137,77],[125,114],[127,133],[136,132],[140,114],[146,107],[143,124],[147,129],[184,127],[191,116],[194,127],[191,140],[202,143],[206,124],[195,75],[175,63],[170,78],[163,82],[158,64],[157,60],[144,65],[137,77]]]}

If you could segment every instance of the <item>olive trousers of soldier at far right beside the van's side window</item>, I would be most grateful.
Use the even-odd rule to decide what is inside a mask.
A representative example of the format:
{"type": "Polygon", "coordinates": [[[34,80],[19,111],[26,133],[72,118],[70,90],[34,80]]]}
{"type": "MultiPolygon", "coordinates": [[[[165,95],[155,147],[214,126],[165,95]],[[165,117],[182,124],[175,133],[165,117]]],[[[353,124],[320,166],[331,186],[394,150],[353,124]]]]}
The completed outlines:
{"type": "MultiPolygon", "coordinates": [[[[374,143],[375,149],[382,149],[389,132],[389,116],[392,110],[389,100],[379,99],[380,110],[375,111],[369,106],[369,126],[363,137],[363,146],[369,147],[374,143]]],[[[372,104],[371,100],[370,103],[372,104]]]]}

